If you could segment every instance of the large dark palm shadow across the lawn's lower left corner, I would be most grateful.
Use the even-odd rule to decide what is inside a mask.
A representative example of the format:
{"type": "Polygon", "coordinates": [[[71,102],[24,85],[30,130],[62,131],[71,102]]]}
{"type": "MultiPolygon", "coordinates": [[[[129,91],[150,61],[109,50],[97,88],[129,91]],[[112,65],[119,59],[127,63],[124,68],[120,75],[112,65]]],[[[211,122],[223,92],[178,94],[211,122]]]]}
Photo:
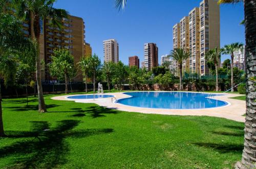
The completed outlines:
{"type": "Polygon", "coordinates": [[[31,122],[31,132],[6,132],[9,138],[26,138],[0,148],[0,159],[15,156],[9,168],[58,168],[65,164],[69,152],[67,137],[87,137],[113,132],[113,129],[86,129],[73,131],[79,120],[62,120],[50,128],[48,122],[31,122]]]}

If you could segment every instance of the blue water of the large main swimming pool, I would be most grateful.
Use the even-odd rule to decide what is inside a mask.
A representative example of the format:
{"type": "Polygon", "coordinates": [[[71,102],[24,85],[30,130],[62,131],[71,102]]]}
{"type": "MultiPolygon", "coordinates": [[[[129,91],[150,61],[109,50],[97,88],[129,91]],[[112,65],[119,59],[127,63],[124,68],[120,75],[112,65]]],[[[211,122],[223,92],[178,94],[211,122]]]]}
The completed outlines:
{"type": "MultiPolygon", "coordinates": [[[[226,102],[206,99],[207,93],[193,92],[124,92],[131,98],[120,99],[117,102],[123,105],[161,108],[161,109],[203,109],[221,107],[226,102]]],[[[220,94],[214,94],[220,95],[220,94]]],[[[211,96],[214,96],[213,94],[211,96]]]]}

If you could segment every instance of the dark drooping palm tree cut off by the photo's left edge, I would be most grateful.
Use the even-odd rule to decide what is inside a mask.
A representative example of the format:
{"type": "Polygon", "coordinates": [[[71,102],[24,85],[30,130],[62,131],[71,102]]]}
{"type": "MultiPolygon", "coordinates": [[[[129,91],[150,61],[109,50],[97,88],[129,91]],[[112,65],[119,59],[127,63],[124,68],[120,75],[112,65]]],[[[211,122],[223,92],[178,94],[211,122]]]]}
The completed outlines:
{"type": "MultiPolygon", "coordinates": [[[[1,2],[1,5],[2,4],[1,2]]],[[[0,8],[0,75],[8,81],[15,77],[15,60],[13,55],[30,56],[35,54],[35,45],[31,39],[25,39],[20,29],[20,21],[9,14],[3,13],[0,8]]],[[[5,136],[2,118],[2,94],[0,83],[0,137],[5,136]]]]}

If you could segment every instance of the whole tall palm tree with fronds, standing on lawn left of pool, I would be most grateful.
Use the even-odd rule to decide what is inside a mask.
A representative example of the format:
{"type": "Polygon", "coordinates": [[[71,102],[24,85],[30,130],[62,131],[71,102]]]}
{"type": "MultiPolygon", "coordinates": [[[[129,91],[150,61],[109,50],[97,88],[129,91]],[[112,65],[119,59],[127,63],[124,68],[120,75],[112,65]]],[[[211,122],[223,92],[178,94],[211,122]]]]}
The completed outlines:
{"type": "Polygon", "coordinates": [[[40,20],[48,18],[50,24],[61,28],[61,19],[68,17],[68,12],[63,9],[53,8],[53,3],[56,0],[13,0],[12,5],[16,9],[16,15],[20,18],[28,18],[32,16],[32,38],[37,42],[37,54],[36,54],[36,81],[38,92],[38,111],[46,112],[46,105],[44,95],[42,93],[41,84],[41,60],[39,57],[39,38],[40,38],[40,20]]]}

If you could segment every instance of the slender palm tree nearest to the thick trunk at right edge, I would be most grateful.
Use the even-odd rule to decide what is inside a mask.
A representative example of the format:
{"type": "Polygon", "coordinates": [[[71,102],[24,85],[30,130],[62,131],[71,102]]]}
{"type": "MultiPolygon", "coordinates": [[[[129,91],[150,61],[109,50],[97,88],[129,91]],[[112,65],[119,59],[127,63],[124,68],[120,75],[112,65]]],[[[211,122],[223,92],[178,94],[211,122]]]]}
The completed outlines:
{"type": "Polygon", "coordinates": [[[231,92],[234,91],[233,87],[233,61],[234,61],[234,51],[241,50],[244,45],[242,43],[231,43],[228,45],[225,45],[221,51],[222,54],[230,55],[231,56],[231,92]]]}

